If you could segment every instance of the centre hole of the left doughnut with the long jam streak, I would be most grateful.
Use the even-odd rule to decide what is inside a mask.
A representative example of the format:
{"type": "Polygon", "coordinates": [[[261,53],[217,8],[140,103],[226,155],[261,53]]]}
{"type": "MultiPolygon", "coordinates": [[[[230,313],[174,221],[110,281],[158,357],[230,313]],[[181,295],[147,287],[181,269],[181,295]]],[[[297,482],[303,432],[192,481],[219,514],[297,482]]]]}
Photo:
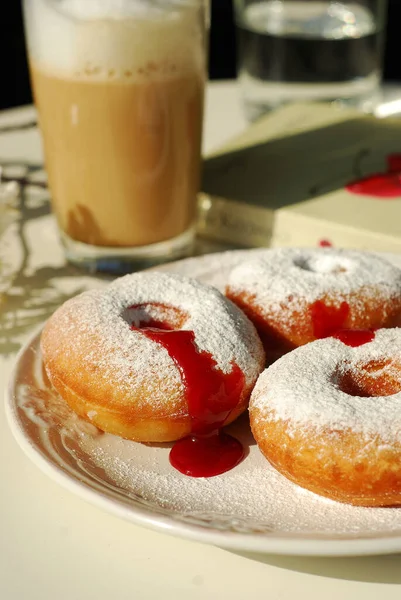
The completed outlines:
{"type": "Polygon", "coordinates": [[[152,327],[164,331],[175,331],[183,328],[189,315],[175,306],[148,302],[133,304],[125,311],[123,318],[131,327],[138,329],[152,327]]]}

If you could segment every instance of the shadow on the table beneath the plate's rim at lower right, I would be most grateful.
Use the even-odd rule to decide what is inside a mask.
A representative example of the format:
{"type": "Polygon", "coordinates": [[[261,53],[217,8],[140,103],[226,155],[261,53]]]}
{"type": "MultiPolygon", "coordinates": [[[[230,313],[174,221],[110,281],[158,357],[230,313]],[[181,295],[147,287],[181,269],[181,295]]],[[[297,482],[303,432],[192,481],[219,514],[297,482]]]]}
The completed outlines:
{"type": "Polygon", "coordinates": [[[401,585],[401,554],[319,558],[231,552],[248,560],[264,563],[278,569],[287,569],[308,575],[347,581],[401,585]]]}

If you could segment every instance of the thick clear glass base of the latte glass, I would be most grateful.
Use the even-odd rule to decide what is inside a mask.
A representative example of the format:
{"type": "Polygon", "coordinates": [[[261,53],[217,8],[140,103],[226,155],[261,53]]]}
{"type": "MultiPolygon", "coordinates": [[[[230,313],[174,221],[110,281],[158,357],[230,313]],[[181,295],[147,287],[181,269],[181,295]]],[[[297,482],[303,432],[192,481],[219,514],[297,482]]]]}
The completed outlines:
{"type": "Polygon", "coordinates": [[[92,246],[70,238],[61,232],[61,242],[67,260],[90,273],[104,272],[123,275],[177,260],[192,254],[195,227],[181,235],[149,246],[113,247],[92,246]]]}

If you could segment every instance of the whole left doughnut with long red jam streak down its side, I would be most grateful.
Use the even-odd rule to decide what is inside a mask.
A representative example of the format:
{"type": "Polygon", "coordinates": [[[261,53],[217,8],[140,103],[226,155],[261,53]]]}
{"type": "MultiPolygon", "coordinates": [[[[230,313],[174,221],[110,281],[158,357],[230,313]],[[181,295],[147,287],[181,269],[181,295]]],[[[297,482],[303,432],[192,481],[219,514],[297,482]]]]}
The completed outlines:
{"type": "Polygon", "coordinates": [[[210,427],[231,422],[264,366],[256,330],[235,305],[212,287],[157,272],[67,301],[45,326],[41,348],[50,381],[75,412],[103,431],[147,442],[184,437],[201,427],[197,419],[210,427]],[[213,397],[192,389],[216,377],[219,389],[204,391],[213,397]]]}

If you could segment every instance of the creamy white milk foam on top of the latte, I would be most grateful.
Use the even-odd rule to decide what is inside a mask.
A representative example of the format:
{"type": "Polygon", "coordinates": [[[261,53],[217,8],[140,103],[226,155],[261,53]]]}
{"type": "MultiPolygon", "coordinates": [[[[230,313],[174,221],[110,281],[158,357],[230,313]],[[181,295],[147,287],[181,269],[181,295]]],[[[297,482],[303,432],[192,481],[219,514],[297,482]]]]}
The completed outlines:
{"type": "Polygon", "coordinates": [[[25,10],[31,60],[62,77],[140,82],[203,66],[191,0],[35,0],[25,10]]]}

